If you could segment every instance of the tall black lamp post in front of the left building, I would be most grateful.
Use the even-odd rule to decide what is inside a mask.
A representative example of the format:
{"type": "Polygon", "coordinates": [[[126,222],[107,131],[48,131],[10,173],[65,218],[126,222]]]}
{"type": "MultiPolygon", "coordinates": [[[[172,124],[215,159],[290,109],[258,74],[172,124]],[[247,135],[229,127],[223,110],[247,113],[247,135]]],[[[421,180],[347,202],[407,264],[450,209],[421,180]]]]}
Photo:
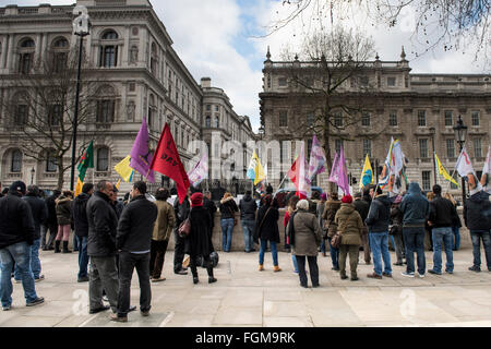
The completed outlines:
{"type": "Polygon", "coordinates": [[[70,190],[73,191],[75,184],[75,156],[76,156],[76,128],[79,124],[79,99],[80,99],[80,75],[82,71],[82,52],[84,36],[89,35],[91,22],[88,19],[87,8],[76,5],[73,9],[73,14],[77,15],[73,20],[73,34],[79,36],[79,69],[76,71],[76,89],[75,89],[75,111],[73,113],[73,130],[72,130],[72,168],[70,177],[70,190]]]}

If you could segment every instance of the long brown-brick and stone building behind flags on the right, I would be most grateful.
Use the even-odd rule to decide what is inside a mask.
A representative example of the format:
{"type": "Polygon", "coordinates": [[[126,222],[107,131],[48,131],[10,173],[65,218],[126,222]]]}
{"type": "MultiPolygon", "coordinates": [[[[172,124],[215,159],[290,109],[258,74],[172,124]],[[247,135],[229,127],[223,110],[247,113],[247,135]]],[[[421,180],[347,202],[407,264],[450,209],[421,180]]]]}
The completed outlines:
{"type": "MultiPolygon", "coordinates": [[[[312,132],[298,132],[299,125],[312,123],[315,105],[323,103],[323,99],[315,99],[318,96],[314,96],[313,88],[296,84],[291,71],[295,70],[296,76],[312,72],[322,76],[321,64],[321,61],[272,61],[270,51],[267,53],[263,92],[260,94],[261,122],[266,142],[279,142],[279,152],[273,158],[268,154],[268,164],[275,167],[275,164],[284,163],[282,168],[276,165],[274,169],[274,183],[282,180],[291,164],[289,159],[296,153],[295,145],[288,145],[290,141],[312,139],[312,132]]],[[[330,136],[332,154],[339,152],[343,145],[348,171],[359,183],[366,155],[372,163],[382,165],[393,136],[400,140],[409,160],[408,180],[418,181],[424,190],[430,190],[434,183],[433,151],[451,173],[455,167],[459,146],[453,127],[462,117],[468,127],[466,147],[480,176],[490,144],[491,75],[412,74],[410,71],[403,48],[399,61],[381,61],[376,57],[375,61],[364,62],[360,76],[347,79],[339,86],[332,96],[332,105],[349,106],[361,100],[363,109],[369,112],[352,125],[331,129],[334,132],[330,136]],[[355,88],[360,81],[369,87],[362,93],[355,88]]],[[[314,87],[322,91],[322,81],[320,84],[314,87]]],[[[343,112],[339,110],[338,118],[331,121],[343,125],[343,112]]],[[[438,176],[438,182],[444,182],[441,176],[438,176]]],[[[320,174],[318,183],[326,188],[327,176],[320,174]]],[[[456,188],[452,185],[451,189],[458,195],[456,188]]]]}

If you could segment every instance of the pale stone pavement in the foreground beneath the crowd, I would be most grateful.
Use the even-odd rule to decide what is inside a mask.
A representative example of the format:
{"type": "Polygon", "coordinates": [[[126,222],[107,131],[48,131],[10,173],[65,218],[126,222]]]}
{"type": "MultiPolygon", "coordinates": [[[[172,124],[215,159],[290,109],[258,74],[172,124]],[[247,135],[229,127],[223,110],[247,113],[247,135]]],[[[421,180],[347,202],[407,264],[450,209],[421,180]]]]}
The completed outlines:
{"type": "MultiPolygon", "coordinates": [[[[273,273],[271,254],[265,272],[258,272],[258,253],[219,253],[218,282],[208,285],[199,269],[191,276],[171,273],[173,252],[166,255],[167,280],[152,284],[151,316],[140,312],[129,322],[108,321],[109,312],[89,315],[88,284],[76,282],[77,254],[43,252],[46,280],[36,284],[46,303],[26,308],[22,285],[14,284],[13,309],[0,312],[0,327],[304,327],[304,326],[491,326],[491,273],[468,272],[470,249],[454,252],[455,274],[406,278],[393,266],[394,277],[368,279],[372,266],[358,267],[359,281],[340,280],[330,257],[319,256],[321,287],[303,289],[292,273],[290,254],[279,253],[280,273],[273,273]]],[[[394,253],[392,253],[394,262],[394,253]]],[[[482,254],[483,257],[483,254],[482,254]]],[[[361,255],[360,255],[361,260],[361,255]]],[[[445,257],[443,256],[443,261],[445,257]]],[[[427,252],[427,268],[432,253],[427,252]]],[[[310,282],[310,280],[309,280],[310,282]]],[[[137,277],[132,304],[139,303],[137,277]]]]}

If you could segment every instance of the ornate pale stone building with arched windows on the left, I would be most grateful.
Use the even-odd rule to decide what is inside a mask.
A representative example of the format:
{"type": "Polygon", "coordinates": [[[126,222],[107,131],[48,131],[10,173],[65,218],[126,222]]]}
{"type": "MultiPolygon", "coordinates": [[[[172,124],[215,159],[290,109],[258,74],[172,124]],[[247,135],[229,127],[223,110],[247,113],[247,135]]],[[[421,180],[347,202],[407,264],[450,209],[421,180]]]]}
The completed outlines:
{"type": "MultiPolygon", "coordinates": [[[[211,93],[196,83],[173,50],[172,39],[149,1],[79,0],[76,4],[87,8],[92,23],[91,34],[83,41],[83,79],[98,84],[91,118],[79,128],[79,144],[94,140],[95,169],[87,172],[88,178],[118,180],[113,166],[130,154],[143,118],[147,120],[151,148],[155,148],[168,123],[184,167],[192,166],[195,149],[190,152],[188,145],[201,140],[208,129],[202,110],[204,103],[211,104],[206,101],[211,93]]],[[[16,82],[32,74],[33,68],[49,55],[65,55],[64,60],[60,59],[65,62],[69,52],[76,51],[73,9],[50,4],[0,8],[1,100],[14,98],[21,88],[15,87],[16,82]]],[[[232,136],[243,130],[240,134],[244,140],[254,139],[248,118],[238,117],[228,98],[224,100],[227,104],[220,104],[221,132],[232,136]]],[[[8,112],[0,108],[0,181],[22,179],[41,188],[56,188],[57,167],[52,160],[40,161],[23,154],[5,124],[12,120],[7,118],[8,112]]],[[[64,179],[68,188],[70,171],[64,179]]],[[[157,176],[157,182],[160,180],[164,182],[157,176]]],[[[128,184],[122,190],[128,190],[128,184]]]]}

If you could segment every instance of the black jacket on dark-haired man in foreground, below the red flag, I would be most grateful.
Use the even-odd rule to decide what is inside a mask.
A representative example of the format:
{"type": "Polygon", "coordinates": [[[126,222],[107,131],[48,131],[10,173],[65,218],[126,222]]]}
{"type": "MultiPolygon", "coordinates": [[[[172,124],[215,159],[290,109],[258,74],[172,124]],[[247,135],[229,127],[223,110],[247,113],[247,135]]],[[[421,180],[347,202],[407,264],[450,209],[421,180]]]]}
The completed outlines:
{"type": "Polygon", "coordinates": [[[119,219],[116,248],[124,252],[149,251],[156,219],[157,206],[145,195],[134,197],[119,219]]]}

